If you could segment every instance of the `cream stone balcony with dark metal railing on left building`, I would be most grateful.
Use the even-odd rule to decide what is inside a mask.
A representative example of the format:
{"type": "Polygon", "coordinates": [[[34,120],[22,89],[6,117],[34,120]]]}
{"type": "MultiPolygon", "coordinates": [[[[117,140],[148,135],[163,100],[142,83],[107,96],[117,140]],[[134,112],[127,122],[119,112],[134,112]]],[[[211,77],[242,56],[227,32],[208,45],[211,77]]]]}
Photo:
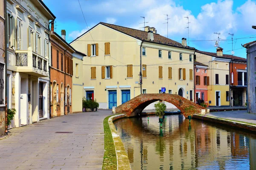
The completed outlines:
{"type": "Polygon", "coordinates": [[[33,51],[15,51],[17,72],[24,72],[36,77],[49,77],[48,59],[33,51]]]}

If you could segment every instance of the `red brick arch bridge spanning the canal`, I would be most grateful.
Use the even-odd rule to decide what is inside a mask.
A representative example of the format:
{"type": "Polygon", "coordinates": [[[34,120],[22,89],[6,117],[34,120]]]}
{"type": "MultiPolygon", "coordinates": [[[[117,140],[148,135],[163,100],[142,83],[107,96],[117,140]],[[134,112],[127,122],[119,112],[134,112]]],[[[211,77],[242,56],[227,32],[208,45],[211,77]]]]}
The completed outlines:
{"type": "Polygon", "coordinates": [[[139,96],[136,96],[128,102],[118,106],[116,108],[116,113],[123,113],[127,117],[138,116],[145,107],[158,100],[164,100],[172,103],[186,118],[189,115],[193,116],[193,114],[205,112],[204,107],[177,94],[140,94],[139,96]]]}

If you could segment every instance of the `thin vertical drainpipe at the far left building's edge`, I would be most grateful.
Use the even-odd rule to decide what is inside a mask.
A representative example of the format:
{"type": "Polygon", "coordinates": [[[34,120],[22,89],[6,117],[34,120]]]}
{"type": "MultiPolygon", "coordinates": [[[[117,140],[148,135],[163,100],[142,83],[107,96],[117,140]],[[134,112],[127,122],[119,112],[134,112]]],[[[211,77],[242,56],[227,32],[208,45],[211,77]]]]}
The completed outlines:
{"type": "Polygon", "coordinates": [[[4,51],[4,60],[5,60],[5,125],[6,125],[6,128],[5,128],[5,133],[6,135],[8,135],[8,125],[7,125],[7,86],[6,86],[6,82],[7,82],[7,18],[8,18],[8,15],[7,15],[7,10],[6,10],[6,0],[4,0],[4,14],[5,14],[5,20],[4,20],[4,27],[5,27],[5,36],[4,36],[4,39],[5,39],[5,45],[4,45],[4,48],[5,48],[5,51],[4,51]]]}

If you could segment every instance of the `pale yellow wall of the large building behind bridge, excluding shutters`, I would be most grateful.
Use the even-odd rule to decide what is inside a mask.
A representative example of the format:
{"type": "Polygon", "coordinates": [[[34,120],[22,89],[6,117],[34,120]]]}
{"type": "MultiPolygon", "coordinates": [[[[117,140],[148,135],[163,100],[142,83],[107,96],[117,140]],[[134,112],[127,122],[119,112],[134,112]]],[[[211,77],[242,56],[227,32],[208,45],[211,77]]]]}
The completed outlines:
{"type": "MultiPolygon", "coordinates": [[[[109,90],[116,90],[117,106],[122,104],[122,90],[130,90],[131,98],[140,95],[140,84],[137,82],[140,82],[141,41],[99,24],[71,45],[87,54],[87,44],[94,43],[99,45],[99,55],[84,57],[83,61],[84,96],[86,91],[94,91],[94,99],[99,102],[99,108],[108,108],[109,90]],[[110,55],[105,55],[105,42],[110,42],[110,55]],[[102,79],[102,65],[113,65],[112,79],[102,79]],[[133,65],[131,78],[127,77],[126,65],[133,65]],[[96,79],[90,78],[91,67],[96,67],[96,79]]],[[[189,69],[193,69],[193,62],[189,62],[189,54],[194,54],[194,51],[148,42],[143,42],[142,46],[146,48],[146,56],[142,55],[142,64],[147,65],[147,77],[143,78],[142,89],[146,89],[147,93],[159,93],[161,87],[166,87],[166,93],[172,90],[172,94],[178,94],[179,88],[183,88],[184,97],[189,99],[189,91],[193,91],[194,87],[193,80],[189,80],[189,69]],[[159,49],[162,50],[162,58],[158,57],[159,49]],[[172,51],[172,59],[168,59],[168,51],[172,51]],[[182,61],[179,59],[180,52],[183,53],[182,61]],[[159,78],[158,66],[163,67],[162,79],[159,78]],[[172,79],[168,79],[168,67],[172,67],[172,79]],[[178,68],[186,68],[186,80],[178,79],[178,68]]]]}

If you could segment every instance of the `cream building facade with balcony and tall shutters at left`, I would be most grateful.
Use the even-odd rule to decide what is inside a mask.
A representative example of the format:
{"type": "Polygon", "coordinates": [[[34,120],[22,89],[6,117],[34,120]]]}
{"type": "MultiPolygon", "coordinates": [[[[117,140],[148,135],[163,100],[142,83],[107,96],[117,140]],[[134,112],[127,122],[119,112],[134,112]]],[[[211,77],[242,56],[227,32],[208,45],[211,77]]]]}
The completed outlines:
{"type": "Polygon", "coordinates": [[[12,127],[49,118],[49,20],[42,0],[7,0],[7,106],[12,127]]]}

